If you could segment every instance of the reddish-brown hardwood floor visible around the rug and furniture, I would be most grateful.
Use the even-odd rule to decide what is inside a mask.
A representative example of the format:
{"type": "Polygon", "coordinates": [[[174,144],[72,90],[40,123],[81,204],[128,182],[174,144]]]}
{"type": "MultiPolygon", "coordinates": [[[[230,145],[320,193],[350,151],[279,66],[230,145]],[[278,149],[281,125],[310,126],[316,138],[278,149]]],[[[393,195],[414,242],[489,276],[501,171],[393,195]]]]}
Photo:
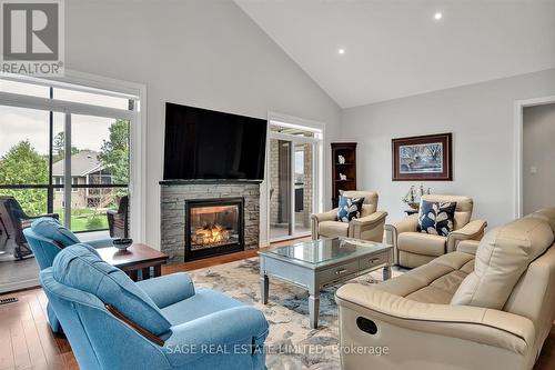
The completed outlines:
{"type": "MultiPolygon", "coordinates": [[[[286,243],[286,242],[283,242],[286,243]]],[[[279,247],[283,243],[272,244],[279,247]]],[[[163,273],[189,271],[255,257],[256,251],[220,256],[202,261],[164,267],[163,273]]],[[[0,306],[0,370],[79,369],[68,341],[57,338],[47,321],[47,297],[40,288],[0,298],[17,297],[18,302],[0,306]]],[[[555,327],[547,338],[535,370],[555,368],[555,327]]]]}

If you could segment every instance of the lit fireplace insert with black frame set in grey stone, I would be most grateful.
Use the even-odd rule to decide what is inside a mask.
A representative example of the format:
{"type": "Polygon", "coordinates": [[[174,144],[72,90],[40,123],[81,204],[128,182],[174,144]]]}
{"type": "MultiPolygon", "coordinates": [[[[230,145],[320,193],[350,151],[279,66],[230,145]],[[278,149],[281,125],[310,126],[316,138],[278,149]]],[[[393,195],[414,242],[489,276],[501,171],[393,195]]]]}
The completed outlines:
{"type": "Polygon", "coordinates": [[[243,250],[243,198],[185,201],[185,261],[243,250]]]}

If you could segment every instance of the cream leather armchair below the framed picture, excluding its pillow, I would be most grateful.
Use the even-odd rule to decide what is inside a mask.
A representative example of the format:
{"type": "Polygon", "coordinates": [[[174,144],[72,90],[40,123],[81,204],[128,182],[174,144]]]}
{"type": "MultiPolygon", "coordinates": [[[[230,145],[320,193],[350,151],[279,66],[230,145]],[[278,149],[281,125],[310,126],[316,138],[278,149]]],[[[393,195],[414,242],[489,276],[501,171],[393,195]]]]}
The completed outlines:
{"type": "Polygon", "coordinates": [[[418,231],[418,214],[411,214],[400,222],[385,224],[385,242],[393,246],[395,263],[415,268],[434,258],[452,252],[463,240],[480,240],[487,222],[471,221],[473,200],[463,196],[427,194],[422,200],[432,202],[456,202],[453,231],[447,237],[418,231]]]}

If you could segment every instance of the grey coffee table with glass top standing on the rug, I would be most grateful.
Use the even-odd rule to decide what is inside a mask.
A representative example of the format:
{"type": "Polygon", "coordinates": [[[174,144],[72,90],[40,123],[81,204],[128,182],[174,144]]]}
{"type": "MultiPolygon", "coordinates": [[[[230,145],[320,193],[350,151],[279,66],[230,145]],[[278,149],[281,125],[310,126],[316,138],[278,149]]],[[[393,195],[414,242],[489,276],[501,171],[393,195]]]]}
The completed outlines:
{"type": "Polygon", "coordinates": [[[383,267],[391,277],[392,247],[349,238],[320,239],[260,251],[262,302],[268,303],[269,277],[309,290],[311,328],[317,327],[320,291],[383,267]]]}

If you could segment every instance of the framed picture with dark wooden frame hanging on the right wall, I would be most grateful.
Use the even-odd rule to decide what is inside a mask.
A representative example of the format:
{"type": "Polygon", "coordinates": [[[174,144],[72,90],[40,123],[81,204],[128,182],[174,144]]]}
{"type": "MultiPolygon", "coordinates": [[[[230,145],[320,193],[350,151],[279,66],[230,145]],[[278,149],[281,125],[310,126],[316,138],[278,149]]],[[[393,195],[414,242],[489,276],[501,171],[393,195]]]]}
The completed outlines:
{"type": "Polygon", "coordinates": [[[452,181],[452,133],[391,140],[393,181],[452,181]]]}

